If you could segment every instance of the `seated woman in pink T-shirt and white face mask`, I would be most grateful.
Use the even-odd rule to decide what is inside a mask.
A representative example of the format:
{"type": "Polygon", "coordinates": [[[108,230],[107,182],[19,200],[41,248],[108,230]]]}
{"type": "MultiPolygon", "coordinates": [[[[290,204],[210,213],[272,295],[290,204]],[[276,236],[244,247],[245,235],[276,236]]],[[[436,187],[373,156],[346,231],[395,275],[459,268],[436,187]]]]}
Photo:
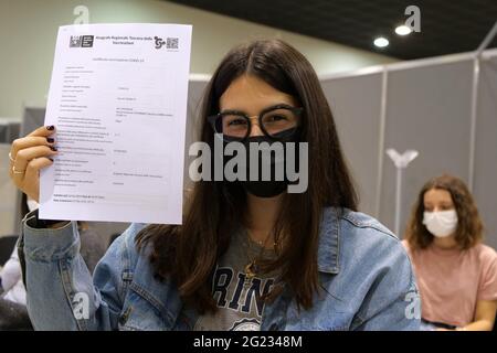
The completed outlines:
{"type": "Polygon", "coordinates": [[[497,254],[482,244],[483,225],[464,182],[430,180],[403,242],[414,263],[425,330],[491,330],[497,308],[497,254]]]}

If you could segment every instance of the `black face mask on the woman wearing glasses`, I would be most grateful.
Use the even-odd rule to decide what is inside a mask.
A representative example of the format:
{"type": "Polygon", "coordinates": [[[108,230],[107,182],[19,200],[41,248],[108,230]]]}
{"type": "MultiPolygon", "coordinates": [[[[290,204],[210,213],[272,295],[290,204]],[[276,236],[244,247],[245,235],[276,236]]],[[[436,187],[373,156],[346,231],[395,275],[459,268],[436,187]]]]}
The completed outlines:
{"type": "MultiPolygon", "coordinates": [[[[242,143],[245,146],[246,151],[246,162],[245,162],[245,169],[246,169],[246,181],[236,181],[239,182],[246,192],[258,196],[258,197],[274,197],[276,195],[279,195],[283,193],[286,188],[289,184],[288,179],[286,178],[286,149],[285,149],[285,142],[297,142],[299,139],[298,131],[296,129],[287,130],[281,132],[279,136],[275,136],[275,138],[271,138],[268,136],[254,136],[247,138],[242,143]],[[277,153],[261,153],[258,152],[257,157],[254,157],[258,161],[258,175],[256,181],[252,181],[251,179],[251,165],[250,165],[250,158],[251,158],[251,149],[250,143],[251,142],[267,142],[269,147],[275,142],[283,143],[283,151],[284,157],[283,159],[277,159],[277,153]],[[271,157],[269,157],[271,156],[271,157]],[[266,157],[266,158],[265,158],[266,157]],[[267,158],[269,157],[269,158],[267,158]],[[263,168],[267,168],[271,171],[271,178],[269,180],[263,180],[262,172],[263,168]],[[284,171],[283,180],[276,180],[276,170],[282,168],[284,171]]],[[[224,146],[228,145],[228,142],[224,142],[224,146]]],[[[298,170],[298,152],[296,153],[296,169],[298,170]]]]}

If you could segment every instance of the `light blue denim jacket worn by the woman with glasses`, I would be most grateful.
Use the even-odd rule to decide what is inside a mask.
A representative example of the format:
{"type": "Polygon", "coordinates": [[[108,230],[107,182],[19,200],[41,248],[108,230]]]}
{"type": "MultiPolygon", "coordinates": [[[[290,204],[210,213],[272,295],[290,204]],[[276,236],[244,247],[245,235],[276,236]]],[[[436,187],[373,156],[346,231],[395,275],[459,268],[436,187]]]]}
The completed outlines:
{"type": "MultiPolygon", "coordinates": [[[[177,286],[154,276],[138,253],[131,224],[92,277],[80,255],[76,222],[33,228],[23,220],[18,243],[25,261],[28,310],[36,330],[191,330],[198,314],[177,286]]],[[[262,330],[419,330],[420,298],[400,240],[374,218],[325,208],[318,248],[321,290],[297,308],[288,289],[266,302],[262,330]]]]}

